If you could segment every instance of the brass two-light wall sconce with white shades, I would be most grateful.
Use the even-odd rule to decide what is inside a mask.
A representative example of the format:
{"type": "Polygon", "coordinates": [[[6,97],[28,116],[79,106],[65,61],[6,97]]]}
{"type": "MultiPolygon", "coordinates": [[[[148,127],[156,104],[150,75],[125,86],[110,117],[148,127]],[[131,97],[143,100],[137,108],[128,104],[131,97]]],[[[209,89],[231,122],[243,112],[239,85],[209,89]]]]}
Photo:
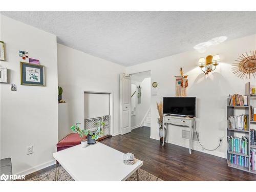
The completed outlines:
{"type": "Polygon", "coordinates": [[[206,58],[201,57],[198,61],[198,65],[201,68],[202,72],[205,75],[208,75],[211,71],[216,69],[216,66],[219,65],[220,56],[219,55],[208,55],[206,58]]]}

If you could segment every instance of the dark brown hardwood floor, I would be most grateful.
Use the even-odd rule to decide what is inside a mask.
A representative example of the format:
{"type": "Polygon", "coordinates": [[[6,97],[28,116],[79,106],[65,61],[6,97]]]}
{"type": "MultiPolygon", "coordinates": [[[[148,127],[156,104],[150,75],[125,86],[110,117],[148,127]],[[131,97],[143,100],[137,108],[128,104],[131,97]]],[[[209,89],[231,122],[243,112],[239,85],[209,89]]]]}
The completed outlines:
{"type": "Polygon", "coordinates": [[[139,127],[129,134],[100,141],[143,161],[142,169],[164,181],[256,181],[256,175],[227,166],[224,158],[150,139],[150,128],[139,127]]]}

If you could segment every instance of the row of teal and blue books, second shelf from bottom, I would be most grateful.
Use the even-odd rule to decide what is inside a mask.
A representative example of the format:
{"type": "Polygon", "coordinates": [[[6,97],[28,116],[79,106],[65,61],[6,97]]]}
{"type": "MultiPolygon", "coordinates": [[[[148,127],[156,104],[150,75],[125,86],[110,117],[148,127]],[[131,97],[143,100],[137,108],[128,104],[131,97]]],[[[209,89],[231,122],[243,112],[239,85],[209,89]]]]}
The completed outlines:
{"type": "Polygon", "coordinates": [[[242,153],[248,155],[248,138],[227,136],[230,152],[242,153]]]}

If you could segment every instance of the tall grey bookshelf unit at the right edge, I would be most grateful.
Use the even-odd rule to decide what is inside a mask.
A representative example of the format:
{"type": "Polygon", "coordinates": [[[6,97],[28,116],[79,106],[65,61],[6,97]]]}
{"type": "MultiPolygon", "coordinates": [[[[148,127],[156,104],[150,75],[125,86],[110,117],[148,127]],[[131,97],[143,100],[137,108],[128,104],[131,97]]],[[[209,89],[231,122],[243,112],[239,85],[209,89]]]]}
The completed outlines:
{"type": "Polygon", "coordinates": [[[251,125],[251,123],[256,123],[256,121],[251,121],[250,120],[250,100],[251,99],[256,99],[256,95],[253,95],[253,96],[250,95],[250,82],[247,82],[245,84],[245,95],[247,95],[247,104],[248,104],[248,106],[231,106],[231,105],[229,105],[229,99],[227,99],[227,121],[228,121],[228,117],[236,115],[235,110],[243,109],[243,110],[245,110],[245,115],[247,115],[247,130],[229,129],[229,127],[227,127],[227,136],[234,136],[236,133],[240,133],[240,134],[243,134],[244,136],[246,136],[248,138],[248,144],[247,144],[247,146],[248,146],[248,149],[247,149],[248,150],[248,155],[244,155],[244,154],[240,154],[240,153],[236,153],[236,152],[230,152],[229,151],[229,146],[228,146],[228,138],[227,138],[227,165],[229,167],[244,170],[245,172],[256,174],[255,170],[251,170],[251,162],[250,162],[250,159],[251,159],[250,149],[256,147],[256,145],[251,145],[250,144],[250,127],[251,127],[250,125],[251,125]],[[237,164],[232,164],[230,162],[230,159],[229,159],[229,154],[248,157],[249,158],[249,167],[240,166],[240,165],[237,165],[237,164]]]}

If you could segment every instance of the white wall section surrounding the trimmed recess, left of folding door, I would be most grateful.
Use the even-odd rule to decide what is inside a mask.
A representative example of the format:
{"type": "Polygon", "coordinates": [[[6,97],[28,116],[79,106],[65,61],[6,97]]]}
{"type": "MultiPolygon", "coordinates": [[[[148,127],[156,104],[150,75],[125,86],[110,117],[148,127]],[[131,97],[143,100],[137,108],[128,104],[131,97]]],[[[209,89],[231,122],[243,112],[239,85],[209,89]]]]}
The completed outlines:
{"type": "Polygon", "coordinates": [[[114,135],[120,133],[120,80],[123,66],[57,44],[58,81],[63,88],[71,126],[81,122],[83,127],[83,91],[114,93],[114,135]]]}

